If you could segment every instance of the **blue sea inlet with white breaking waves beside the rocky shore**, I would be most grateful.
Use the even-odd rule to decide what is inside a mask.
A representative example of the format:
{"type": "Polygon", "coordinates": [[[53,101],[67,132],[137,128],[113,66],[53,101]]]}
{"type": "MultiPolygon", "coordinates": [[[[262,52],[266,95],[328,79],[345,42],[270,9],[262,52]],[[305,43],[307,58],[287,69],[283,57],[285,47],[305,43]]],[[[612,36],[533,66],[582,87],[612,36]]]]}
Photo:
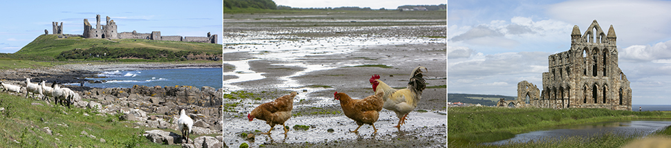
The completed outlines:
{"type": "MultiPolygon", "coordinates": [[[[98,81],[84,83],[84,86],[100,88],[131,88],[134,85],[143,86],[210,86],[221,88],[221,68],[184,68],[184,69],[154,69],[143,71],[103,71],[96,78],[86,80],[98,81]]],[[[80,85],[80,84],[71,84],[80,85]]]]}

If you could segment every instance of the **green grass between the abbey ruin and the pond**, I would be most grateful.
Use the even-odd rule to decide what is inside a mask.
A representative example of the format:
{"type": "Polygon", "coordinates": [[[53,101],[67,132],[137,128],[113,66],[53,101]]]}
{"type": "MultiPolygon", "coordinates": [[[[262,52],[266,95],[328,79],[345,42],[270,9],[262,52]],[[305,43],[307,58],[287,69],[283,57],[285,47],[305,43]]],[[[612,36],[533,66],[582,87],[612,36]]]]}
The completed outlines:
{"type": "MultiPolygon", "coordinates": [[[[514,137],[517,133],[551,129],[571,124],[589,124],[618,120],[671,119],[661,111],[613,111],[609,109],[540,109],[504,107],[448,108],[448,143],[450,147],[468,147],[514,137]]],[[[609,139],[629,140],[612,136],[609,139]]],[[[546,142],[553,142],[547,140],[546,142]]],[[[564,142],[564,141],[559,141],[564,142]]],[[[608,145],[612,142],[606,142],[608,145]]],[[[589,143],[580,143],[591,145],[589,143]]],[[[620,143],[616,143],[621,145],[620,143]]],[[[562,144],[565,145],[565,144],[562,144]]],[[[606,144],[605,144],[606,145],[606,144]]],[[[526,147],[526,146],[523,146],[526,147]]]]}

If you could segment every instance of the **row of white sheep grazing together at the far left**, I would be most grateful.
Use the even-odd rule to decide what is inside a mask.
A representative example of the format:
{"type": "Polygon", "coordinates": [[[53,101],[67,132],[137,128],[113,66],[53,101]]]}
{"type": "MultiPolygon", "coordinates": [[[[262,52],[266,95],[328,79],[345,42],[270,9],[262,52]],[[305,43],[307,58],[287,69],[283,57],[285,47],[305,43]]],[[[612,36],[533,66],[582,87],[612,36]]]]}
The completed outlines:
{"type": "Polygon", "coordinates": [[[45,81],[35,84],[30,82],[30,78],[26,78],[26,85],[24,86],[0,82],[0,89],[3,89],[3,92],[8,91],[19,94],[23,88],[26,88],[26,98],[28,98],[30,93],[33,93],[33,99],[40,98],[41,100],[49,101],[49,98],[53,98],[54,103],[60,102],[61,105],[67,105],[68,108],[75,102],[75,99],[80,98],[75,91],[61,88],[56,83],[51,84],[51,86],[46,86],[45,81]]]}

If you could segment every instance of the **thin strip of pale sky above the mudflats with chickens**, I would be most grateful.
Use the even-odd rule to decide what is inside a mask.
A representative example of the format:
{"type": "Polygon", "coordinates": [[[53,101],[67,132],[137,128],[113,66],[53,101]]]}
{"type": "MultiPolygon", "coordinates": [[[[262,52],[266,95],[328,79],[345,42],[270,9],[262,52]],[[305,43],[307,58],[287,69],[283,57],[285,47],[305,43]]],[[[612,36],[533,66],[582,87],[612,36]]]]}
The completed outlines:
{"type": "Polygon", "coordinates": [[[360,7],[360,8],[371,8],[371,9],[396,9],[398,6],[404,5],[440,5],[445,4],[445,0],[372,0],[372,1],[360,1],[360,0],[315,0],[315,1],[305,1],[305,0],[273,0],[275,4],[282,6],[290,6],[291,8],[338,8],[338,7],[360,7]]]}

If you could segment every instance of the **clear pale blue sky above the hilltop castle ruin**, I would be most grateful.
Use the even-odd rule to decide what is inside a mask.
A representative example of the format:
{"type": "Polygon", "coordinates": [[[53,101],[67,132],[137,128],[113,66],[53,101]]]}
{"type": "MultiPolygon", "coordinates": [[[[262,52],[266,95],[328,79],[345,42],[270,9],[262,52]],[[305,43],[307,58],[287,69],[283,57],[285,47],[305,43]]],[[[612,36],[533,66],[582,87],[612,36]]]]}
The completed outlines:
{"type": "Polygon", "coordinates": [[[118,32],[205,37],[222,41],[223,1],[3,1],[0,5],[0,53],[15,53],[44,29],[52,34],[52,21],[63,22],[63,33],[82,35],[84,19],[95,26],[109,16],[118,32]]]}

